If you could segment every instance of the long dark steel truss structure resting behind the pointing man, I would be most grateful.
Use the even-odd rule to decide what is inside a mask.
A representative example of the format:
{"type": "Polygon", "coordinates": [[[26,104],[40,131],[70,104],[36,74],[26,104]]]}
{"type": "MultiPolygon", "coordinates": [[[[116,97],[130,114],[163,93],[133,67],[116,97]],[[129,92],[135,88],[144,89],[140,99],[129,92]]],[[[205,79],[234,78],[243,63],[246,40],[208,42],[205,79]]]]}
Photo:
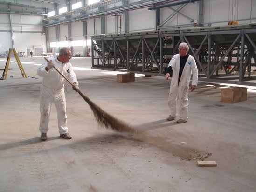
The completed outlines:
{"type": "Polygon", "coordinates": [[[181,42],[189,45],[199,80],[256,86],[256,23],[116,35],[92,41],[92,68],[164,76],[181,42]]]}

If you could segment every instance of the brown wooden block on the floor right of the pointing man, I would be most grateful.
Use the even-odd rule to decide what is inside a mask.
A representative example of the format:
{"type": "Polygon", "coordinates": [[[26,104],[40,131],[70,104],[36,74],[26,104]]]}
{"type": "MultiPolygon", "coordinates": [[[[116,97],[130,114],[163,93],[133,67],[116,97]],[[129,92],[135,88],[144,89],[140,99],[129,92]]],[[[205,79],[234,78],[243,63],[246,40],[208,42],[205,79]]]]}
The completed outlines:
{"type": "Polygon", "coordinates": [[[221,102],[237,103],[247,99],[246,87],[229,87],[221,89],[221,102]]]}

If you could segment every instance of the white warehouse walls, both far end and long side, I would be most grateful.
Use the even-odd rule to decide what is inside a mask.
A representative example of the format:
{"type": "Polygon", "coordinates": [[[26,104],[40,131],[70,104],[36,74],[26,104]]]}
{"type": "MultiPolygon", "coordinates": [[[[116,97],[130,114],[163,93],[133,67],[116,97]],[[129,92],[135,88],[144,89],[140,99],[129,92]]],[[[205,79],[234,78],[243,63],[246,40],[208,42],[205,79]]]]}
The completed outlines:
{"type": "MultiPolygon", "coordinates": [[[[70,5],[76,3],[77,0],[70,0],[70,5]]],[[[136,0],[129,0],[129,3],[138,2],[136,0]]],[[[105,7],[115,8],[121,6],[122,2],[111,4],[105,7]]],[[[199,19],[199,3],[189,3],[183,7],[177,14],[175,10],[179,9],[182,5],[161,8],[160,22],[161,28],[170,27],[194,27],[193,21],[199,19]],[[171,16],[172,15],[172,16],[171,16]],[[171,18],[166,20],[167,18],[171,18]],[[163,21],[166,21],[163,23],[163,21]]],[[[57,6],[57,9],[64,7],[57,6]]],[[[203,26],[223,26],[228,25],[228,21],[237,20],[239,24],[245,24],[250,22],[256,22],[256,1],[255,0],[204,0],[203,1],[203,26]]],[[[0,9],[7,9],[7,5],[0,5],[0,9]]],[[[11,6],[11,10],[23,10],[22,7],[11,6]]],[[[35,9],[36,10],[36,9],[35,9]]],[[[40,11],[40,10],[36,10],[40,11]]],[[[41,9],[42,11],[42,9],[41,9]]],[[[48,10],[52,11],[52,10],[48,10]]],[[[96,13],[98,9],[92,9],[86,12],[96,13]]],[[[148,10],[148,7],[141,7],[133,9],[128,12],[128,31],[148,31],[155,30],[156,17],[155,11],[148,10]]],[[[71,18],[75,18],[80,14],[71,15],[71,18]]],[[[67,42],[69,47],[72,46],[72,41],[83,40],[83,45],[72,46],[73,54],[81,54],[83,56],[90,55],[90,36],[95,34],[120,34],[125,31],[125,19],[123,13],[117,13],[115,15],[104,15],[105,26],[102,27],[102,17],[94,17],[83,21],[71,22],[71,33],[69,34],[68,24],[62,24],[57,27],[60,28],[59,38],[56,35],[56,26],[47,27],[45,32],[48,33],[48,39],[42,33],[42,16],[41,15],[21,15],[11,14],[11,20],[9,14],[3,14],[0,12],[0,53],[8,51],[12,48],[12,35],[11,25],[13,27],[13,44],[17,52],[26,52],[27,48],[32,50],[35,47],[42,47],[44,52],[57,52],[59,47],[46,47],[50,43],[55,43],[56,46],[60,46],[58,43],[67,42]],[[86,23],[86,29],[83,28],[83,23],[86,23]],[[102,28],[105,31],[102,31],[102,28]],[[84,35],[87,34],[87,35],[84,35]],[[88,39],[88,41],[86,41],[88,39]]],[[[66,18],[62,17],[59,21],[65,21],[66,18]]]]}

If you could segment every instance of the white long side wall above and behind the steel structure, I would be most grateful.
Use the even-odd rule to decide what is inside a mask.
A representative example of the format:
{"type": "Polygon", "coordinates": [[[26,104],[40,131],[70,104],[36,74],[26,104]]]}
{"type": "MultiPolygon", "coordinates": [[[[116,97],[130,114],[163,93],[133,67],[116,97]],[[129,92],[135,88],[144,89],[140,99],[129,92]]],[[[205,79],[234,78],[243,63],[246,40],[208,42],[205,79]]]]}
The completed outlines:
{"type": "MultiPolygon", "coordinates": [[[[130,0],[129,3],[136,2],[135,0],[130,0]]],[[[71,0],[70,4],[76,3],[76,0],[71,0]]],[[[256,22],[256,12],[253,10],[256,8],[256,1],[252,0],[204,0],[203,1],[203,26],[223,26],[228,25],[228,21],[237,20],[239,24],[245,24],[250,22],[256,22]]],[[[111,4],[105,7],[105,9],[115,8],[121,6],[122,2],[111,4]]],[[[199,19],[199,7],[198,2],[190,3],[187,6],[180,9],[179,14],[175,14],[175,10],[179,9],[182,5],[165,7],[161,8],[160,22],[166,21],[170,15],[173,15],[171,19],[167,20],[161,27],[170,28],[170,27],[194,27],[194,22],[199,19]]],[[[87,14],[93,14],[97,12],[98,9],[93,9],[87,11],[87,14]]],[[[92,35],[99,34],[120,34],[125,31],[125,22],[124,14],[118,13],[111,15],[104,15],[105,21],[105,31],[102,31],[102,21],[101,18],[93,18],[86,20],[87,23],[87,38],[90,39],[92,35]]],[[[72,15],[73,17],[77,15],[72,15]]],[[[61,18],[60,20],[65,20],[61,18]]],[[[148,10],[148,7],[139,8],[129,11],[129,29],[131,32],[138,31],[151,31],[156,28],[156,18],[155,11],[148,10]]],[[[72,39],[83,39],[83,30],[81,26],[83,25],[82,21],[72,23],[72,39]],[[80,27],[79,27],[80,25],[80,27]],[[79,30],[77,30],[79,29],[79,30]],[[75,31],[75,33],[73,33],[75,31]]],[[[62,25],[68,27],[67,25],[62,25]]],[[[54,28],[54,27],[49,27],[54,28]]],[[[64,29],[63,29],[64,30],[64,29]]],[[[61,35],[63,37],[64,34],[61,35]]],[[[52,41],[52,40],[51,40],[52,41]]],[[[87,41],[88,42],[88,41],[87,41]]],[[[88,44],[84,45],[88,46],[88,44]]],[[[82,47],[73,47],[74,54],[81,54],[86,56],[87,54],[83,53],[82,47]]],[[[87,49],[91,49],[90,45],[87,49]]]]}

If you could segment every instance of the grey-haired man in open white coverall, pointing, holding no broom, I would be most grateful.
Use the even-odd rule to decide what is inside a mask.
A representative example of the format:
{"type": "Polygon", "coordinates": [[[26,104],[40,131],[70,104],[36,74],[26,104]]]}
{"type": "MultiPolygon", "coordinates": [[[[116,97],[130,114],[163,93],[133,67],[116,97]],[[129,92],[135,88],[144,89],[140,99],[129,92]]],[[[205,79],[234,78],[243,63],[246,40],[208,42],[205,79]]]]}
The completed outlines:
{"type": "Polygon", "coordinates": [[[169,62],[165,75],[166,79],[169,79],[170,74],[173,71],[168,102],[170,115],[167,120],[171,121],[179,114],[180,119],[177,123],[185,123],[188,120],[187,96],[191,75],[193,75],[191,91],[194,91],[198,80],[198,70],[195,60],[193,56],[187,54],[188,50],[189,47],[187,43],[180,43],[179,54],[174,55],[172,60],[169,62]],[[179,102],[179,105],[177,105],[177,101],[179,102]],[[177,113],[178,107],[179,109],[177,113]]]}

